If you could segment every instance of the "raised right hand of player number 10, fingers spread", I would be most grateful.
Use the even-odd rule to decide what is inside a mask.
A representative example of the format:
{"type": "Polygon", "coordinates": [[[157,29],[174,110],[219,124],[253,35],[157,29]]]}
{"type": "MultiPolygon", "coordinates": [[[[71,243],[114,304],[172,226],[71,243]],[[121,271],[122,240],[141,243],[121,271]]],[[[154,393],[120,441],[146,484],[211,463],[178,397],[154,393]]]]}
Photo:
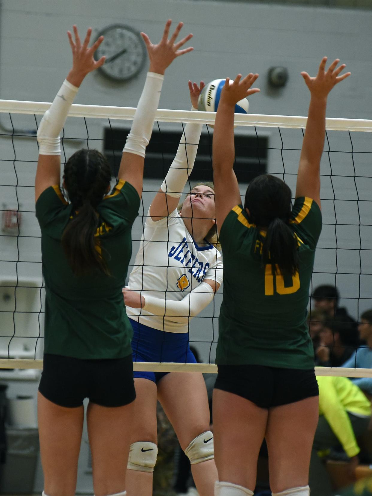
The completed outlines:
{"type": "Polygon", "coordinates": [[[328,67],[328,70],[325,71],[327,57],[323,57],[315,77],[310,77],[305,71],[301,72],[301,75],[305,79],[306,85],[310,90],[311,96],[326,98],[328,93],[337,83],[350,76],[351,72],[346,72],[345,74],[342,74],[342,76],[339,76],[340,72],[346,67],[346,64],[343,63],[336,69],[338,62],[340,62],[340,59],[333,61],[328,67]]]}

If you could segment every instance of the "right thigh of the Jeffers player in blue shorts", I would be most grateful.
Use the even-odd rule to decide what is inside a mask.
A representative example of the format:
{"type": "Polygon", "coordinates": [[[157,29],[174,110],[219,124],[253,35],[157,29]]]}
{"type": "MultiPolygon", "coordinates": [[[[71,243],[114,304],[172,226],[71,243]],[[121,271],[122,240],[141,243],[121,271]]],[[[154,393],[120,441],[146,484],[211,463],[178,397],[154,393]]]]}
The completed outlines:
{"type": "Polygon", "coordinates": [[[158,399],[183,450],[210,429],[207,389],[200,372],[171,372],[158,382],[158,399]]]}

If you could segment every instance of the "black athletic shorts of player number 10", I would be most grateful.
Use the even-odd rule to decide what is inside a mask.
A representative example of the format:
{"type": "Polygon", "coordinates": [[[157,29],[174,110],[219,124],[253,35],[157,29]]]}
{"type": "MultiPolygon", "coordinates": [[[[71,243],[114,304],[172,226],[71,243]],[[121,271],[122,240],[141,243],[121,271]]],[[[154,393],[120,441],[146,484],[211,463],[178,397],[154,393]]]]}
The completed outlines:
{"type": "Polygon", "coordinates": [[[219,365],[216,389],[238,394],[260,408],[318,396],[314,369],[278,369],[262,365],[219,365]]]}

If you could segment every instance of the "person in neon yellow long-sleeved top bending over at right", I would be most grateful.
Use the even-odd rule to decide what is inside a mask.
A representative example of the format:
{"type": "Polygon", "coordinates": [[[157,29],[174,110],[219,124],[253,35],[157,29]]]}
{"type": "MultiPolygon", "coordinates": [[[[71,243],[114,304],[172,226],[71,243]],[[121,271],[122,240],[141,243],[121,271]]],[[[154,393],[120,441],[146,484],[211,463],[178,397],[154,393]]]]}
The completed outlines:
{"type": "Polygon", "coordinates": [[[371,420],[371,403],[348,377],[316,377],[319,386],[319,422],[311,451],[309,486],[311,496],[333,494],[332,483],[318,451],[342,447],[354,474],[359,464],[357,438],[371,420]]]}

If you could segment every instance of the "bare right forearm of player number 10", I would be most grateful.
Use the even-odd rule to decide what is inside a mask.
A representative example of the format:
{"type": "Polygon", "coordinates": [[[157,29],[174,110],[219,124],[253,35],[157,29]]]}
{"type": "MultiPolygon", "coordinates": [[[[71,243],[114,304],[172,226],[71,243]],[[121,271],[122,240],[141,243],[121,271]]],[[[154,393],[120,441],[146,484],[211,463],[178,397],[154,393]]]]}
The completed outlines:
{"type": "Polygon", "coordinates": [[[326,105],[326,97],[312,96],[310,99],[308,122],[306,124],[300,163],[306,163],[314,170],[319,168],[323,152],[326,105]]]}

